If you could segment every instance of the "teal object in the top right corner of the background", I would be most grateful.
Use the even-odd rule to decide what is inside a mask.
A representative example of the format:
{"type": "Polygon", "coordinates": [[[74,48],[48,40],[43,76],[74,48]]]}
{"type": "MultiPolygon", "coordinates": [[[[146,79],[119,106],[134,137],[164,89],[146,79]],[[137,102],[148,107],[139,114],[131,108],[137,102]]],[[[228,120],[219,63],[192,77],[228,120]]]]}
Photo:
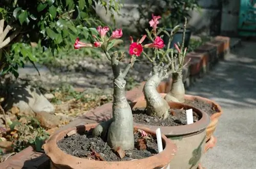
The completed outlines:
{"type": "Polygon", "coordinates": [[[240,0],[238,34],[256,36],[256,0],[240,0]]]}

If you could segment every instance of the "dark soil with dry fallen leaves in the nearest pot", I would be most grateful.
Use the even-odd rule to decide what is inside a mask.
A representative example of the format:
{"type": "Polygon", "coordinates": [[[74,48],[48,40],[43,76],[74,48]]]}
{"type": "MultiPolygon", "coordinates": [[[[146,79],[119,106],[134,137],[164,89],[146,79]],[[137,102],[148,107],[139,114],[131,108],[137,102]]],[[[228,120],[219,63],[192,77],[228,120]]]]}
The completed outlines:
{"type": "Polygon", "coordinates": [[[91,130],[66,136],[59,140],[57,145],[67,154],[100,161],[128,161],[147,158],[158,153],[156,138],[142,130],[134,131],[135,148],[133,150],[113,150],[103,139],[93,137],[91,130]]]}

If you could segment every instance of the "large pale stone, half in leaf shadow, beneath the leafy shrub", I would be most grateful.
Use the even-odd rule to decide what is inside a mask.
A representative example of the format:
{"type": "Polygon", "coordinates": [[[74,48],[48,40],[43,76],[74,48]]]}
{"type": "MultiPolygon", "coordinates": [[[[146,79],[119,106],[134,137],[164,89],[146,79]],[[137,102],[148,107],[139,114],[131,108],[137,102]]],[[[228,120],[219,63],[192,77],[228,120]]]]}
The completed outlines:
{"type": "MultiPolygon", "coordinates": [[[[45,98],[41,92],[30,85],[16,85],[12,84],[7,88],[8,96],[5,100],[5,109],[10,109],[16,106],[20,112],[26,114],[34,114],[37,112],[46,112],[53,114],[54,106],[45,98]]],[[[16,112],[17,108],[13,108],[16,112]]]]}

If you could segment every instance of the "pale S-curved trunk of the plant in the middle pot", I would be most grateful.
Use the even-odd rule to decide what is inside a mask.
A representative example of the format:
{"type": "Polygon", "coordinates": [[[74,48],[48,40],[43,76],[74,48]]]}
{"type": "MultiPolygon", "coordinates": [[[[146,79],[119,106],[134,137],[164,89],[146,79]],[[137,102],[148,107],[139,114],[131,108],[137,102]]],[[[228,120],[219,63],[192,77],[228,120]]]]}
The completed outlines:
{"type": "Polygon", "coordinates": [[[143,88],[147,114],[163,119],[169,116],[169,105],[157,92],[156,88],[165,77],[166,75],[162,73],[156,73],[147,80],[143,88]]]}

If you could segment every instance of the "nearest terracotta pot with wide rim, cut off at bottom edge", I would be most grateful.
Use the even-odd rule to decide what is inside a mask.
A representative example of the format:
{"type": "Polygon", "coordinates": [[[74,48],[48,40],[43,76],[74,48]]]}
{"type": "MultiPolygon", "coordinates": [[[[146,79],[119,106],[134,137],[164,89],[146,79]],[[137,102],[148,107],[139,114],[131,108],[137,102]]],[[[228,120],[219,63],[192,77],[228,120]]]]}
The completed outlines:
{"type": "MultiPolygon", "coordinates": [[[[65,152],[61,151],[58,146],[57,142],[63,139],[67,133],[72,130],[77,132],[83,132],[85,130],[90,130],[94,128],[97,124],[88,124],[88,125],[81,125],[77,127],[73,127],[67,130],[63,130],[61,132],[55,133],[51,135],[51,137],[47,140],[47,143],[44,145],[44,150],[46,155],[51,159],[51,169],[91,169],[91,168],[98,168],[98,169],[114,169],[114,168],[168,168],[169,162],[174,158],[177,147],[174,143],[172,143],[166,136],[162,135],[162,141],[164,150],[154,156],[138,159],[138,160],[131,160],[131,161],[95,161],[89,160],[85,158],[78,158],[65,152]]],[[[152,135],[156,135],[156,133],[150,129],[145,127],[136,127],[137,129],[142,129],[147,133],[152,135]]]]}

